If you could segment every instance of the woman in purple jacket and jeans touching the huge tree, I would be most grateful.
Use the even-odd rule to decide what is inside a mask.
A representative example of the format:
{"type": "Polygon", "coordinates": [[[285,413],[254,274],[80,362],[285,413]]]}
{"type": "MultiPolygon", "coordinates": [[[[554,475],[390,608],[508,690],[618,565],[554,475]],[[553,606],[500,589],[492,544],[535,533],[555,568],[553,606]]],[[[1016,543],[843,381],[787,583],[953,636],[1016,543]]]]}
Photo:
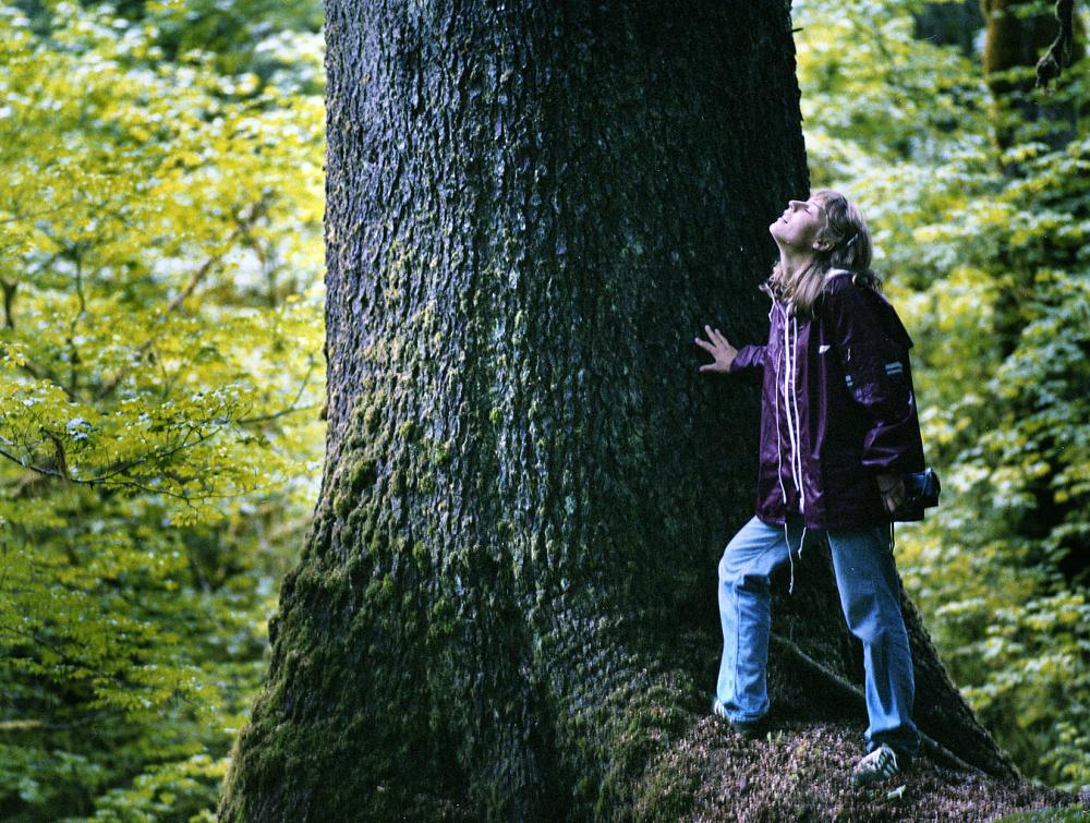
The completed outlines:
{"type": "Polygon", "coordinates": [[[841,194],[790,201],[768,227],[779,261],[765,346],[735,349],[707,326],[701,372],[763,385],[756,515],[719,561],[723,658],[713,711],[747,737],[768,712],[768,578],[823,532],[845,618],[863,643],[869,753],[857,783],[887,779],[918,752],[912,658],[900,612],[891,523],[903,519],[900,480],[922,471],[908,332],[879,293],[871,238],[841,194]]]}

